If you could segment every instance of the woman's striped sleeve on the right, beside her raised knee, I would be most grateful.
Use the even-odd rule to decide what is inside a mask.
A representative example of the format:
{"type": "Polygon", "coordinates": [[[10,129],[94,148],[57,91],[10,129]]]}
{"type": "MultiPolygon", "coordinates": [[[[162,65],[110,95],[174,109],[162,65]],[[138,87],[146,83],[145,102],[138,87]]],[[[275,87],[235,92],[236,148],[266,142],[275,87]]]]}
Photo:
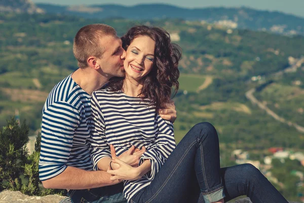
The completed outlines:
{"type": "Polygon", "coordinates": [[[150,160],[151,171],[145,174],[145,177],[148,180],[154,179],[155,175],[159,172],[160,168],[176,146],[173,124],[170,121],[165,121],[159,115],[157,115],[155,122],[159,128],[157,139],[152,146],[146,149],[146,152],[142,154],[139,160],[139,165],[146,159],[150,160]]]}

